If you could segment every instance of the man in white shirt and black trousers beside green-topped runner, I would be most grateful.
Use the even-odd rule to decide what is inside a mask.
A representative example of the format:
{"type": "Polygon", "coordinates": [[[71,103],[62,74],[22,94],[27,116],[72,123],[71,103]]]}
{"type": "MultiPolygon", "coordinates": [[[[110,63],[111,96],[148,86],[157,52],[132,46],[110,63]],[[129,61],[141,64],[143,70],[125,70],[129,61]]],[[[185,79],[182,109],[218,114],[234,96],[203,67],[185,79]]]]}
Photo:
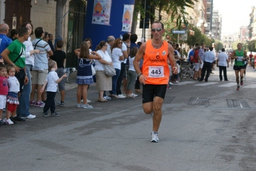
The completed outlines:
{"type": "Polygon", "coordinates": [[[224,75],[224,80],[228,81],[226,77],[226,67],[228,67],[228,55],[225,53],[225,49],[221,49],[221,53],[219,53],[216,61],[217,67],[219,67],[219,80],[222,81],[222,70],[224,75]]]}

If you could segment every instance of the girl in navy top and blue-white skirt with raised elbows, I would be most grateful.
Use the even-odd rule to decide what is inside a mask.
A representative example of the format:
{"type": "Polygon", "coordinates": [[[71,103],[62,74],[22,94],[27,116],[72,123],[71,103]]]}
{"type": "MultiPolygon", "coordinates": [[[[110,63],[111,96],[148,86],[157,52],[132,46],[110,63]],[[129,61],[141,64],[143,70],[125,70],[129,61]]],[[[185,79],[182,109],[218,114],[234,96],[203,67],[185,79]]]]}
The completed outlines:
{"type": "Polygon", "coordinates": [[[77,107],[93,108],[87,103],[87,88],[90,84],[94,83],[90,60],[100,60],[101,56],[94,51],[89,54],[89,48],[86,42],[81,42],[81,49],[74,50],[74,53],[78,56],[79,60],[78,72],[76,75],[76,83],[78,84],[78,90],[76,92],[76,99],[78,102],[77,107]],[[81,104],[81,97],[83,97],[83,104],[81,104]]]}

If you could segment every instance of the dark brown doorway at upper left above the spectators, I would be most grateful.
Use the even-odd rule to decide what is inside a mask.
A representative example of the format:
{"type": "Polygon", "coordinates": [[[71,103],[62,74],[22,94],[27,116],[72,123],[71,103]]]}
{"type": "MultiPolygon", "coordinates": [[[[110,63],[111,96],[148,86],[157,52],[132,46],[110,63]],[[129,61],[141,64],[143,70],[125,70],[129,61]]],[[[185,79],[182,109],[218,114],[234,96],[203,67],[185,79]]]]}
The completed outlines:
{"type": "Polygon", "coordinates": [[[30,21],[31,0],[6,0],[4,3],[4,23],[10,29],[19,29],[23,22],[30,21]]]}

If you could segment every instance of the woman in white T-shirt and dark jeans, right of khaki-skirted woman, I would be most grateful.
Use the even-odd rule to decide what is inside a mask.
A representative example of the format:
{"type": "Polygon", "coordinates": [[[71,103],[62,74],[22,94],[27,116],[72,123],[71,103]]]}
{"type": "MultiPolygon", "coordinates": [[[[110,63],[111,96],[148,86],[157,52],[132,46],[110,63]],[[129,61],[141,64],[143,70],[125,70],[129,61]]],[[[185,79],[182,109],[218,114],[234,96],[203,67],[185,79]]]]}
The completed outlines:
{"type": "Polygon", "coordinates": [[[117,79],[121,71],[121,60],[124,60],[123,52],[121,50],[123,41],[121,38],[115,39],[114,44],[111,47],[111,58],[113,62],[113,67],[115,68],[115,76],[112,76],[112,91],[109,92],[110,95],[117,98],[123,98],[117,96],[117,79]]]}

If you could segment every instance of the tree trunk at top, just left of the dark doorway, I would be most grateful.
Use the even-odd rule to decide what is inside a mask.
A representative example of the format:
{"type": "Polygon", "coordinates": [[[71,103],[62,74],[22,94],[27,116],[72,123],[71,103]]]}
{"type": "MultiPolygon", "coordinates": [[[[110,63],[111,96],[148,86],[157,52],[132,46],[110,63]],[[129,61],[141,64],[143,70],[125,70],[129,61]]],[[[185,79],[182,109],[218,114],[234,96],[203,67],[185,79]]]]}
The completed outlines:
{"type": "Polygon", "coordinates": [[[62,38],[62,16],[64,6],[67,3],[67,0],[57,0],[56,2],[56,35],[55,38],[62,38]]]}

